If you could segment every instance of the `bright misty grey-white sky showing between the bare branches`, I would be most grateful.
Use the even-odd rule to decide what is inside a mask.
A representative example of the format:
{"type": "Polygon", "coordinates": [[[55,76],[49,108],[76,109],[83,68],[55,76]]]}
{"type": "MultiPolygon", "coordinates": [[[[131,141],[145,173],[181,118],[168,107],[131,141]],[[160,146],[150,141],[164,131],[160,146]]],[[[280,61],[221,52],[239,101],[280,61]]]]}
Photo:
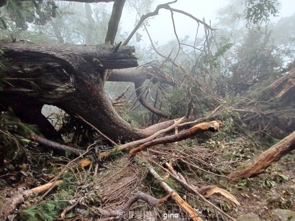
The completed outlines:
{"type": "MultiPolygon", "coordinates": [[[[168,0],[156,0],[153,9],[157,4],[166,3],[168,0]]],[[[183,10],[195,16],[198,19],[206,19],[206,22],[211,20],[212,25],[216,23],[216,11],[221,7],[229,4],[230,0],[178,0],[177,3],[171,4],[171,7],[183,10]]],[[[272,21],[277,21],[281,17],[291,16],[295,13],[295,0],[280,0],[280,16],[278,18],[272,19],[272,21]]],[[[134,28],[135,13],[129,12],[124,9],[122,14],[122,28],[128,34],[134,28]]],[[[186,34],[194,38],[198,24],[186,17],[185,15],[174,13],[175,24],[177,35],[179,37],[184,37],[186,34]]],[[[160,44],[165,44],[167,41],[175,38],[171,13],[168,10],[160,9],[159,15],[155,16],[154,19],[149,21],[150,27],[148,30],[152,36],[153,41],[159,41],[160,44]]],[[[199,28],[200,34],[203,34],[203,27],[199,28]]],[[[143,35],[143,39],[148,43],[147,34],[140,31],[143,35]]]]}

